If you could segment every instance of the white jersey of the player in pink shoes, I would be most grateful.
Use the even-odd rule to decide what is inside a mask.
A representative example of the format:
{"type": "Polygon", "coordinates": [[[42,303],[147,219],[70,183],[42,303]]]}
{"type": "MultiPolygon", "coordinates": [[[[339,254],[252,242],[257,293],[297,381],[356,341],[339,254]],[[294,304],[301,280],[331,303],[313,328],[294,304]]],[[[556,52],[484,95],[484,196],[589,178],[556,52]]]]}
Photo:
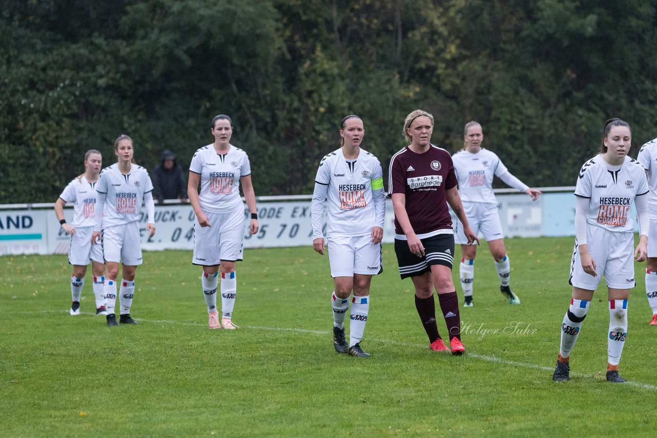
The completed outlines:
{"type": "Polygon", "coordinates": [[[214,144],[208,144],[196,150],[189,171],[201,175],[198,200],[203,211],[228,213],[244,208],[240,178],[251,174],[246,152],[231,144],[227,153],[217,154],[214,144]]]}

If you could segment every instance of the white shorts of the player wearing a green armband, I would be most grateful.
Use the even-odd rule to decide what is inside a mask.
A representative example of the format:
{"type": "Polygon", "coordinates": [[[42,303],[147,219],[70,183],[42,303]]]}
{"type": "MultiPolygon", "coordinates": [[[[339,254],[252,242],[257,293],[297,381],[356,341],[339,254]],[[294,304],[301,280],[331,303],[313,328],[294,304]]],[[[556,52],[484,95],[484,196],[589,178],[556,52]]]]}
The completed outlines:
{"type": "Polygon", "coordinates": [[[353,274],[376,275],[383,272],[381,244],[373,244],[372,236],[336,236],[327,239],[328,263],[332,277],[353,274]]]}

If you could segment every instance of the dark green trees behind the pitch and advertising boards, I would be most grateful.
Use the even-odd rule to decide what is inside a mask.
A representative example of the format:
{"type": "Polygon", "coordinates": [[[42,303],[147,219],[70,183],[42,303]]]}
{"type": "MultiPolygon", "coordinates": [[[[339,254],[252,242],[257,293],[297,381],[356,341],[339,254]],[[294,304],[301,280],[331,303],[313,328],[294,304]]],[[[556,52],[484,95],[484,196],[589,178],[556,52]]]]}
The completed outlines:
{"type": "Polygon", "coordinates": [[[406,114],[463,125],[530,186],[574,185],[611,117],[632,156],[657,137],[657,5],[625,0],[4,0],[0,204],[53,202],[90,148],[133,138],[185,171],[216,114],[256,194],[309,194],[339,123],[359,114],[384,167],[406,114]]]}

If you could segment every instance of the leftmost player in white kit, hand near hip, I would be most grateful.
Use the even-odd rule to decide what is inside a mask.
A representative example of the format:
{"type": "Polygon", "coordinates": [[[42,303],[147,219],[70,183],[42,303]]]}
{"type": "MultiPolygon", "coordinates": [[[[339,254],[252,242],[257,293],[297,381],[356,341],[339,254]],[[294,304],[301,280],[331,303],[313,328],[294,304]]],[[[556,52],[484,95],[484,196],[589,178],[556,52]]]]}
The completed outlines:
{"type": "Polygon", "coordinates": [[[96,301],[96,315],[106,315],[105,294],[103,292],[105,264],[100,246],[91,245],[91,233],[95,223],[96,183],[101,173],[101,152],[95,149],[87,150],[84,156],[85,171],[68,183],[62,194],[55,201],[55,215],[66,234],[71,236],[68,248],[68,263],[73,265],[71,277],[72,303],[70,315],[80,314],[80,299],[87,265],[91,261],[93,273],[93,295],[96,301]],[[70,224],[64,219],[64,206],[73,203],[73,220],[70,224]]]}

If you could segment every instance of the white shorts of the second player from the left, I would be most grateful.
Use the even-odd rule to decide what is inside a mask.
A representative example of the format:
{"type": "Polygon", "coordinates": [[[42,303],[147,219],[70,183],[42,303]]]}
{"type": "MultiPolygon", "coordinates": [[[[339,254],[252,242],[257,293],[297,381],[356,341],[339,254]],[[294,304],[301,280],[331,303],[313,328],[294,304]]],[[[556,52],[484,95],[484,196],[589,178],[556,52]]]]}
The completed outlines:
{"type": "Polygon", "coordinates": [[[141,265],[139,222],[114,225],[102,230],[102,253],[105,261],[121,262],[126,266],[141,265]]]}

